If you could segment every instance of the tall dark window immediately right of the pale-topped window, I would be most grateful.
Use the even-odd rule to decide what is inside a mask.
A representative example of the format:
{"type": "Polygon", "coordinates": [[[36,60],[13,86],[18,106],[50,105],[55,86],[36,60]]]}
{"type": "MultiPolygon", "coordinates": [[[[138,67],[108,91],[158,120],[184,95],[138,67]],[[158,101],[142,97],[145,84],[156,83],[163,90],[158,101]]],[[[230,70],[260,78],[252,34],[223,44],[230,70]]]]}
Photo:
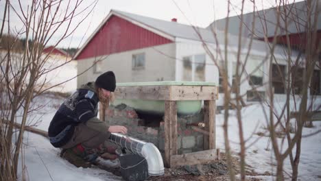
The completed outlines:
{"type": "Polygon", "coordinates": [[[275,94],[285,93],[285,65],[272,64],[272,86],[275,94]]]}

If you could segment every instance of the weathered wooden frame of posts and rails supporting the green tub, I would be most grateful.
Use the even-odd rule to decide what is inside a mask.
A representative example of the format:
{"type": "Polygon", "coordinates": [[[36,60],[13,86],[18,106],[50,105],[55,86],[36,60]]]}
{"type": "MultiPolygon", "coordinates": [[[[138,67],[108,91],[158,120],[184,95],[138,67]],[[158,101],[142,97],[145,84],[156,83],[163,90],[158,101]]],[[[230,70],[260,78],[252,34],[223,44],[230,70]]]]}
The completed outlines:
{"type": "Polygon", "coordinates": [[[165,166],[202,164],[218,158],[219,152],[215,150],[217,86],[117,86],[115,96],[117,99],[165,101],[165,166]],[[178,155],[176,101],[187,100],[204,100],[204,123],[208,125],[204,134],[204,151],[178,155]]]}

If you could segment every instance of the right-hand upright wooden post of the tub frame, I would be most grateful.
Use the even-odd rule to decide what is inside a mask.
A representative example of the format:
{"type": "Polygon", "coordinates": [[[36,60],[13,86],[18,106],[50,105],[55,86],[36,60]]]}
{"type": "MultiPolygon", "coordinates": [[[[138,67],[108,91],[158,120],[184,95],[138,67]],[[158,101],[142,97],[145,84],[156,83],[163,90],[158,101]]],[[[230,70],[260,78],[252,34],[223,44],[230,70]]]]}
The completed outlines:
{"type": "Polygon", "coordinates": [[[204,149],[215,149],[215,101],[204,101],[204,122],[209,136],[204,135],[204,149]]]}

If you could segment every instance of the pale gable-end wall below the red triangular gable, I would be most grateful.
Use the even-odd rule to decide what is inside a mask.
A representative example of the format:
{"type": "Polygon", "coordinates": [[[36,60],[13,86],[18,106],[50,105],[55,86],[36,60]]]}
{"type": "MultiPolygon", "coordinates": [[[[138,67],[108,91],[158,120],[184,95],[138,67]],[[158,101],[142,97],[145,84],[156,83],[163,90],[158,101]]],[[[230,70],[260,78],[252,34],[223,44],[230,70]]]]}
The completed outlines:
{"type": "MultiPolygon", "coordinates": [[[[102,60],[105,71],[114,71],[117,82],[155,82],[175,80],[175,44],[169,43],[145,49],[135,49],[121,53],[112,53],[109,56],[78,60],[78,73],[91,67],[95,60],[102,60]],[[132,69],[132,55],[145,53],[145,68],[132,69]]],[[[88,81],[94,81],[101,73],[94,73],[91,68],[78,77],[78,87],[88,81]]]]}

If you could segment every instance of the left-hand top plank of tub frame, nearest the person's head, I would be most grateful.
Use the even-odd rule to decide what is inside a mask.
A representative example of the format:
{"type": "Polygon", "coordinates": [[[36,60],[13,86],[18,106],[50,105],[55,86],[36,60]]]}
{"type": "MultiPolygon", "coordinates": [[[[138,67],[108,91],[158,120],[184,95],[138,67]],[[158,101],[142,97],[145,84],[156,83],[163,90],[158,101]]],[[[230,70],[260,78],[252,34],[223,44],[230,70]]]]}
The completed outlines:
{"type": "Polygon", "coordinates": [[[118,86],[117,99],[168,100],[169,86],[118,86]]]}

